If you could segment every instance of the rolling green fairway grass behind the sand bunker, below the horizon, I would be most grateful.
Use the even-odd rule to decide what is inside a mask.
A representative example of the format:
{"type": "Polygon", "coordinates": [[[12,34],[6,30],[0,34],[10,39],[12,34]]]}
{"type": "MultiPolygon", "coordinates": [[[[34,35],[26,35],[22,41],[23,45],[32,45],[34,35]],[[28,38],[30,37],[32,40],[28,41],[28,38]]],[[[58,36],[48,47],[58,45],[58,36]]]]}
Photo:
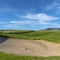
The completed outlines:
{"type": "Polygon", "coordinates": [[[8,36],[10,38],[27,39],[27,40],[48,40],[60,43],[60,31],[30,31],[30,30],[14,30],[0,32],[0,36],[8,36]]]}

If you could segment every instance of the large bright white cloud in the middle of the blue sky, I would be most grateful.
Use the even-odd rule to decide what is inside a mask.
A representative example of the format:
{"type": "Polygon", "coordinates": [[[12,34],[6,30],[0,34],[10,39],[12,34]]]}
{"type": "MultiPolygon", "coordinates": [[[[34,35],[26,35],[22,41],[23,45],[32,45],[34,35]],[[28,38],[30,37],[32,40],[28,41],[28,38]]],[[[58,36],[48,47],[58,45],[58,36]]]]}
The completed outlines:
{"type": "Polygon", "coordinates": [[[48,24],[50,21],[58,19],[58,17],[50,16],[45,13],[27,14],[25,16],[20,16],[20,17],[30,19],[30,20],[37,20],[39,21],[40,24],[48,24]]]}

